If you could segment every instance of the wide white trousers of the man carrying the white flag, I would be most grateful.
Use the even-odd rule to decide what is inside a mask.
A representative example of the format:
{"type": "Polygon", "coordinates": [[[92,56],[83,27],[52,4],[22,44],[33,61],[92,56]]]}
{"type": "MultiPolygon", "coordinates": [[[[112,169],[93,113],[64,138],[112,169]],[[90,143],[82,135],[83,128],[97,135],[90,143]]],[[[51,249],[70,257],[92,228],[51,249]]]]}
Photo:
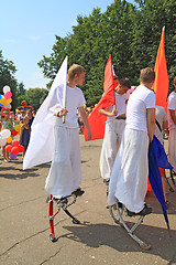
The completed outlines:
{"type": "Polygon", "coordinates": [[[78,128],[55,125],[55,150],[45,189],[56,198],[72,194],[81,181],[78,128]]]}

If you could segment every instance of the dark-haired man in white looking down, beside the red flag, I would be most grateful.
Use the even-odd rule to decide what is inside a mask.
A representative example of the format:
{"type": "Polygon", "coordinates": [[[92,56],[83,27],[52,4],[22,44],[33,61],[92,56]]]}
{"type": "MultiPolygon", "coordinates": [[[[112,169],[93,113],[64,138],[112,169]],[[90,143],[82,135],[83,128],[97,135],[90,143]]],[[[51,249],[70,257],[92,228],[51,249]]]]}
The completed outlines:
{"type": "Polygon", "coordinates": [[[105,181],[109,181],[113,162],[122,139],[125,126],[127,92],[131,87],[129,78],[119,81],[114,89],[116,109],[113,106],[101,108],[100,114],[107,116],[106,130],[100,156],[100,171],[105,181]]]}

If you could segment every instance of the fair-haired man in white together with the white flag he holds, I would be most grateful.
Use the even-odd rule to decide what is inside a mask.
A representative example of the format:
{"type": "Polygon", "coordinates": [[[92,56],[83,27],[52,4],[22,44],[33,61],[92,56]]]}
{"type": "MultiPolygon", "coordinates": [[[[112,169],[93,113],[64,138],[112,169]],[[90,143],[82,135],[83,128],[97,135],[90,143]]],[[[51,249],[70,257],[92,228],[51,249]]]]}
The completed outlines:
{"type": "Polygon", "coordinates": [[[67,57],[34,118],[23,160],[24,170],[52,161],[45,189],[57,199],[70,195],[79,189],[81,181],[77,108],[88,130],[88,140],[92,137],[84,109],[86,100],[81,89],[76,87],[82,85],[86,70],[74,64],[68,70],[68,80],[66,73],[67,57]]]}

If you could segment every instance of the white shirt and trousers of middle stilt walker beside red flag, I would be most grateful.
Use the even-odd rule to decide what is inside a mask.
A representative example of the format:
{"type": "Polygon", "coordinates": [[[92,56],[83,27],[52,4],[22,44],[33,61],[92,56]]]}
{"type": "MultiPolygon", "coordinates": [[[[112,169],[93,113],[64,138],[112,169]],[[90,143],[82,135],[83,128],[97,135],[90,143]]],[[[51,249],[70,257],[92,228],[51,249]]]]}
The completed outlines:
{"type": "MultiPolygon", "coordinates": [[[[113,162],[122,140],[122,134],[125,126],[124,119],[117,119],[118,116],[124,115],[127,112],[127,93],[120,95],[114,93],[116,96],[116,108],[118,115],[107,118],[106,131],[103,137],[103,144],[100,156],[100,171],[103,179],[110,179],[113,162]]],[[[112,112],[113,106],[108,107],[108,112],[112,112]]]]}

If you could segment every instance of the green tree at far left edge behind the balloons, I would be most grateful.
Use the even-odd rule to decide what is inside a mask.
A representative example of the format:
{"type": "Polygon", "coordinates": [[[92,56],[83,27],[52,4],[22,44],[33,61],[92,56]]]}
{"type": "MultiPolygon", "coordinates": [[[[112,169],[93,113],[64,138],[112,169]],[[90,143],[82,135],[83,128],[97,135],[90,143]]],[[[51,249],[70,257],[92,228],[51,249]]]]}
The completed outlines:
{"type": "Polygon", "coordinates": [[[16,107],[16,87],[18,81],[14,77],[16,68],[12,61],[4,60],[2,56],[2,51],[0,51],[0,94],[3,95],[3,86],[9,85],[12,92],[12,108],[16,107]]]}

